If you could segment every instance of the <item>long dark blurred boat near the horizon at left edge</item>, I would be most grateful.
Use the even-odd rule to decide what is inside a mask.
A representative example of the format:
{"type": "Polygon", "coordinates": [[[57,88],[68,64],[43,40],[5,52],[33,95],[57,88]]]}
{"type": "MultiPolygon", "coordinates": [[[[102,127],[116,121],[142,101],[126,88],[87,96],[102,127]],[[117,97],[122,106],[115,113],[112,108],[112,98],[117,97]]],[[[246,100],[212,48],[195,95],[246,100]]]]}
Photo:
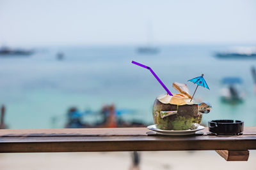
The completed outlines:
{"type": "Polygon", "coordinates": [[[13,48],[9,48],[7,46],[2,46],[0,48],[0,56],[1,57],[10,57],[12,55],[20,55],[22,57],[27,57],[31,54],[33,54],[33,50],[24,50],[24,49],[13,49],[13,48]]]}

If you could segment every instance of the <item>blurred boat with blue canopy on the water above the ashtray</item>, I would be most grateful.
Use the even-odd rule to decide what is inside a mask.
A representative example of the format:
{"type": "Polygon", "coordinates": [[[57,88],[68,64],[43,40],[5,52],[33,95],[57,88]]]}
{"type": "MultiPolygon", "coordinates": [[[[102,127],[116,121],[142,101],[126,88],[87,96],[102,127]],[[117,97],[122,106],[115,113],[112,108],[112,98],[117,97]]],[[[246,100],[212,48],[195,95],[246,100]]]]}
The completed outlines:
{"type": "Polygon", "coordinates": [[[227,104],[239,104],[244,101],[244,92],[241,88],[243,80],[239,77],[225,77],[221,80],[221,102],[227,104]]]}

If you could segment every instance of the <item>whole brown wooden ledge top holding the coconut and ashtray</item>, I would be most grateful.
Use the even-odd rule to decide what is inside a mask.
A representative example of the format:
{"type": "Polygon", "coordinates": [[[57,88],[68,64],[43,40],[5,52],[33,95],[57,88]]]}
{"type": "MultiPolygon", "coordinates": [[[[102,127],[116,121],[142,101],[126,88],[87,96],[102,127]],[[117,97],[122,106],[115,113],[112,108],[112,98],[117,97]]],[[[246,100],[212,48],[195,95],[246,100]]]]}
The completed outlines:
{"type": "Polygon", "coordinates": [[[241,136],[160,136],[145,127],[3,129],[0,152],[108,152],[156,150],[256,150],[256,127],[241,136]]]}

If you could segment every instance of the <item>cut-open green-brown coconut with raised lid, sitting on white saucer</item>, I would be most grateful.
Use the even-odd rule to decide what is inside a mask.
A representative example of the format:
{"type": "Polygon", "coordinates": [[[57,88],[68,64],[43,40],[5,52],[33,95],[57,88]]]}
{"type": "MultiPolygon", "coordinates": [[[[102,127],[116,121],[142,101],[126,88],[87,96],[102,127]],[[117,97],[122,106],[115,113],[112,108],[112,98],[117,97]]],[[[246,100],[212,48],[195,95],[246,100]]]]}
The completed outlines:
{"type": "Polygon", "coordinates": [[[186,84],[175,82],[173,87],[179,94],[163,94],[156,98],[153,105],[154,124],[162,130],[196,129],[202,120],[202,113],[209,113],[211,105],[191,100],[186,84]]]}

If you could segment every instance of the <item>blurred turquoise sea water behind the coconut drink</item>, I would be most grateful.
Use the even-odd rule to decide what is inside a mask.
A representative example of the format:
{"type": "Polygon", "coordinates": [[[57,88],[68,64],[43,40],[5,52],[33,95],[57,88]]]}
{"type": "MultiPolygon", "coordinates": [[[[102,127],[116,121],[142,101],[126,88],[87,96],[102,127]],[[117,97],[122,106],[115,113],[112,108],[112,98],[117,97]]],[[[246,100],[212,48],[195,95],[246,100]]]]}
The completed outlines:
{"type": "MultiPolygon", "coordinates": [[[[195,97],[212,104],[203,122],[230,118],[256,125],[256,96],[250,67],[256,60],[220,60],[212,52],[223,46],[161,46],[157,55],[139,55],[136,46],[73,46],[42,48],[28,58],[0,58],[0,104],[6,106],[6,124],[14,128],[63,127],[70,106],[79,110],[99,110],[104,104],[131,108],[136,114],[126,120],[152,124],[152,104],[164,89],[150,72],[131,64],[131,60],[152,67],[165,85],[185,83],[205,74],[211,90],[199,88],[195,97]],[[57,52],[65,60],[56,60],[57,52]],[[246,99],[230,106],[220,102],[220,80],[224,76],[243,78],[246,99]],[[57,117],[55,124],[51,118],[57,117]]],[[[195,85],[187,83],[191,91],[195,85]]],[[[93,122],[99,117],[85,117],[93,122]]]]}

